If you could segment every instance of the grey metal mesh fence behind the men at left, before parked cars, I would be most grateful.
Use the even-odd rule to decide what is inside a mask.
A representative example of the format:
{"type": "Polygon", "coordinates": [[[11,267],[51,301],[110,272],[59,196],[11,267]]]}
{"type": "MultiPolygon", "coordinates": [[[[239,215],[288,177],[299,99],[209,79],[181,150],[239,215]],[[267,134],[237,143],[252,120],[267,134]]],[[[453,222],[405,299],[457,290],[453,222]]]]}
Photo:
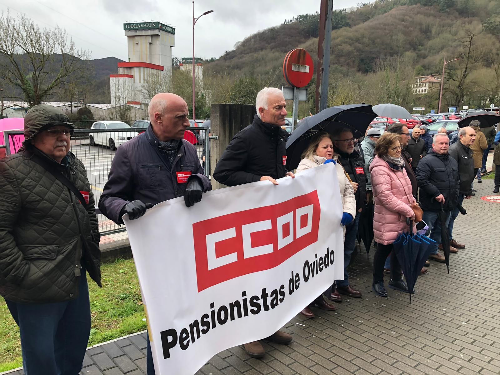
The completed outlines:
{"type": "MultiPolygon", "coordinates": [[[[188,127],[192,134],[189,134],[191,143],[195,142],[194,147],[198,154],[200,163],[205,167],[205,174],[208,176],[210,171],[209,166],[209,147],[206,144],[209,142],[207,127],[188,127]],[[205,156],[206,162],[203,162],[202,157],[205,156]]],[[[99,219],[99,231],[101,233],[110,234],[125,230],[124,226],[115,224],[107,219],[98,211],[97,203],[100,194],[107,181],[107,175],[111,162],[115,155],[115,149],[119,145],[138,135],[139,130],[131,130],[130,128],[119,129],[75,129],[71,136],[71,152],[83,162],[87,172],[87,178],[90,182],[90,188],[94,193],[97,217],[99,219]]],[[[4,130],[5,151],[6,154],[15,153],[24,140],[22,130],[4,130]]]]}

